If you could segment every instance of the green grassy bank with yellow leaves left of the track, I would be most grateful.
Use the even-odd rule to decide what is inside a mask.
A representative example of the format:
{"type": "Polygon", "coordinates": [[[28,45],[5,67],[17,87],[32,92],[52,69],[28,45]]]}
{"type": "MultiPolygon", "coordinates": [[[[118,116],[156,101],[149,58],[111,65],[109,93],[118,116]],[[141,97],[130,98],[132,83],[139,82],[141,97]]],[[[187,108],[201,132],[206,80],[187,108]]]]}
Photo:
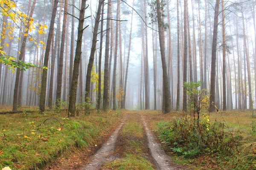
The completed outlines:
{"type": "Polygon", "coordinates": [[[66,113],[1,115],[0,169],[29,170],[43,167],[72,147],[95,144],[121,116],[116,112],[91,113],[67,118],[66,113]]]}

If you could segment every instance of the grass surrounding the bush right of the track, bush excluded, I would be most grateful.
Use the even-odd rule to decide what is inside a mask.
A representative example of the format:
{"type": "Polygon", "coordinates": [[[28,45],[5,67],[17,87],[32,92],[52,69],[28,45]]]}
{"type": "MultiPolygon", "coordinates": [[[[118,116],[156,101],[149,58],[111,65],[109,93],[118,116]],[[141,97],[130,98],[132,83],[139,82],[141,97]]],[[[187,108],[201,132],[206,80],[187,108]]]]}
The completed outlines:
{"type": "MultiPolygon", "coordinates": [[[[176,116],[177,119],[182,114],[177,115],[177,112],[163,114],[160,111],[148,111],[147,119],[151,122],[151,128],[156,130],[168,130],[168,124],[176,116]],[[167,120],[169,119],[169,120],[167,120]],[[166,129],[167,127],[167,129],[166,129]]],[[[201,117],[202,118],[202,117],[201,117]]],[[[204,118],[202,118],[204,119],[204,118]]],[[[193,169],[224,169],[224,170],[244,170],[256,169],[256,118],[252,116],[251,111],[227,111],[210,113],[210,124],[214,125],[215,122],[224,124],[224,142],[229,144],[232,154],[220,152],[209,148],[208,153],[200,153],[195,158],[187,158],[183,153],[196,152],[193,150],[182,150],[183,147],[177,147],[172,151],[173,159],[176,163],[190,164],[193,169]],[[236,152],[236,147],[239,153],[236,152]]],[[[159,133],[156,133],[158,136],[159,133]]],[[[166,133],[167,134],[167,133],[166,133]]],[[[171,139],[172,136],[160,136],[161,139],[171,139]]],[[[210,140],[210,139],[209,139],[210,140]]],[[[164,141],[163,141],[164,142],[164,141]]],[[[177,143],[175,143],[177,144],[177,143]]],[[[166,150],[170,151],[170,148],[166,150]]],[[[230,151],[231,152],[231,151],[230,151]]]]}

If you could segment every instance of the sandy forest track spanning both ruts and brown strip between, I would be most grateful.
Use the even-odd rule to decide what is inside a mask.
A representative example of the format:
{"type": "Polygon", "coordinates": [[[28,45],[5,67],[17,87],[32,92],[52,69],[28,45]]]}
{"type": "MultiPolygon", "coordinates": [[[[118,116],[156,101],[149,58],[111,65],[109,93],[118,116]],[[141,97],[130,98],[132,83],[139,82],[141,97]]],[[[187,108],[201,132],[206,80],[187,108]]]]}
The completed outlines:
{"type": "MultiPolygon", "coordinates": [[[[138,147],[137,146],[137,147],[138,147]]],[[[126,113],[123,121],[115,132],[111,135],[108,142],[102,145],[102,148],[93,155],[89,160],[89,163],[82,168],[82,170],[108,170],[118,169],[125,165],[113,165],[120,162],[127,161],[125,156],[134,154],[146,158],[151,163],[151,167],[157,170],[183,170],[185,168],[178,167],[170,160],[170,157],[161,149],[160,143],[158,143],[156,137],[148,128],[146,117],[144,113],[136,113],[131,111],[126,113]],[[132,124],[134,123],[135,124],[132,124]],[[142,127],[142,136],[136,135],[136,131],[132,131],[130,125],[137,127],[137,124],[142,127]],[[126,127],[127,126],[127,127],[126,127]],[[131,128],[131,129],[129,129],[131,128]],[[131,130],[130,132],[127,130],[131,130]],[[131,142],[136,142],[140,148],[136,148],[131,142]],[[110,146],[111,145],[111,146],[110,146]],[[133,148],[134,147],[134,148],[133,148]],[[113,164],[111,164],[113,162],[113,164]],[[105,164],[104,164],[105,163],[105,164]]],[[[140,159],[136,158],[136,159],[140,159]]],[[[136,164],[136,163],[134,163],[136,164]]],[[[131,165],[129,168],[131,168],[131,165]]],[[[128,167],[127,167],[128,168],[128,167]]],[[[139,166],[135,168],[140,169],[139,166]]],[[[141,169],[143,170],[143,169],[141,169]]]]}

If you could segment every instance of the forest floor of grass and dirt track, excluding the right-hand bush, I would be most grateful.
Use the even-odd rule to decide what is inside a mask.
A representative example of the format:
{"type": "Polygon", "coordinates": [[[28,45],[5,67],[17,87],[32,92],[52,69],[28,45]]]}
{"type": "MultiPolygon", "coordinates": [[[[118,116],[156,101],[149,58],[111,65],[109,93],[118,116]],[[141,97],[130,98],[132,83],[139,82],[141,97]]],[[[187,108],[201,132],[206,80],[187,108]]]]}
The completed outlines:
{"type": "MultiPolygon", "coordinates": [[[[8,110],[11,107],[0,108],[8,110]]],[[[227,158],[222,160],[220,156],[212,157],[213,154],[184,159],[166,149],[166,142],[157,138],[160,125],[181,116],[181,112],[163,114],[151,110],[100,114],[92,111],[89,116],[80,113],[70,119],[65,111],[1,115],[0,169],[6,166],[12,170],[229,169],[229,162],[224,160],[227,158]]],[[[213,113],[209,119],[227,122],[228,128],[224,130],[235,137],[239,135],[242,155],[239,164],[255,162],[253,112],[213,113]]]]}

